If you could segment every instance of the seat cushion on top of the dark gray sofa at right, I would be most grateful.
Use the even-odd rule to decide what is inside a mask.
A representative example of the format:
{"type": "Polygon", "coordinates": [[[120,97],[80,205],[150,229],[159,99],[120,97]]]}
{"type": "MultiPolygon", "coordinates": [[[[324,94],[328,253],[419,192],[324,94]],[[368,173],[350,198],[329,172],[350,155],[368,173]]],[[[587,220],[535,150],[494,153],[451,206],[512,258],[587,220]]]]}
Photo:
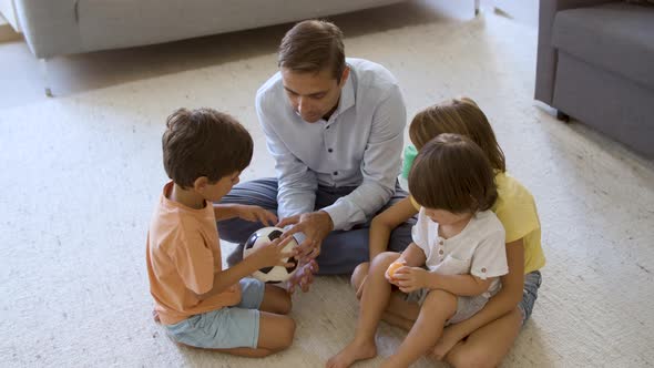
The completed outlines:
{"type": "Polygon", "coordinates": [[[654,8],[624,2],[556,13],[552,44],[654,90],[654,8]]]}

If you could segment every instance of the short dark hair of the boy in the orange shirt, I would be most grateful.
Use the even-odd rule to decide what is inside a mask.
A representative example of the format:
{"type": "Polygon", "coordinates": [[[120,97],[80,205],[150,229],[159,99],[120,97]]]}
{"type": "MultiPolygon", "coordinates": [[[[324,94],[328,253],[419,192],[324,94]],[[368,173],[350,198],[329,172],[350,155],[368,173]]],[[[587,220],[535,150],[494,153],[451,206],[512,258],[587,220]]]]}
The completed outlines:
{"type": "Polygon", "coordinates": [[[241,172],[252,160],[252,136],[234,117],[213,109],[178,109],[162,137],[164,168],[183,188],[201,176],[210,183],[241,172]]]}

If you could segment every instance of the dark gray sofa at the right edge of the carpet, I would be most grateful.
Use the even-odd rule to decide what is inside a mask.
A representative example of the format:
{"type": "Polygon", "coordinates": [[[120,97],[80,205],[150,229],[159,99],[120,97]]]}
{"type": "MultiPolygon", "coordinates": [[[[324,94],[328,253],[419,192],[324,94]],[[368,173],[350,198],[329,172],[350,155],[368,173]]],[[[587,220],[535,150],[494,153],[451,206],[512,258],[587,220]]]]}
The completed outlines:
{"type": "Polygon", "coordinates": [[[535,99],[654,159],[654,7],[541,0],[535,99]]]}

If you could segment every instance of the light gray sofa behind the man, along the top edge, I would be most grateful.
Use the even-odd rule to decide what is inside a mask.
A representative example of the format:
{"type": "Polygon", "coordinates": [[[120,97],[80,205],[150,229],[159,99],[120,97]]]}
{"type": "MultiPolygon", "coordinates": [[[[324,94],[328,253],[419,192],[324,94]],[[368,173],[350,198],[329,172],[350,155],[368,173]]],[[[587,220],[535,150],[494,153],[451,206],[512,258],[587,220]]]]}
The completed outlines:
{"type": "Polygon", "coordinates": [[[403,0],[14,0],[40,59],[345,13],[403,0]]]}

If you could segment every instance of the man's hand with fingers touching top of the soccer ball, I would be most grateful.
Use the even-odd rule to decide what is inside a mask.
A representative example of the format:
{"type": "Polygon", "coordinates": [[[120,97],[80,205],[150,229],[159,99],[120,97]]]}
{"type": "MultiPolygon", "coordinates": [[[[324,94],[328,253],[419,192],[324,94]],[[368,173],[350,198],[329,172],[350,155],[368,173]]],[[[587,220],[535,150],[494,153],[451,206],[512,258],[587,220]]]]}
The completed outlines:
{"type": "Polygon", "coordinates": [[[284,218],[277,224],[278,227],[294,225],[284,234],[283,238],[290,237],[295,233],[303,233],[305,241],[297,247],[300,263],[307,263],[320,255],[323,241],[334,229],[334,222],[328,213],[324,211],[310,212],[284,218]]]}

